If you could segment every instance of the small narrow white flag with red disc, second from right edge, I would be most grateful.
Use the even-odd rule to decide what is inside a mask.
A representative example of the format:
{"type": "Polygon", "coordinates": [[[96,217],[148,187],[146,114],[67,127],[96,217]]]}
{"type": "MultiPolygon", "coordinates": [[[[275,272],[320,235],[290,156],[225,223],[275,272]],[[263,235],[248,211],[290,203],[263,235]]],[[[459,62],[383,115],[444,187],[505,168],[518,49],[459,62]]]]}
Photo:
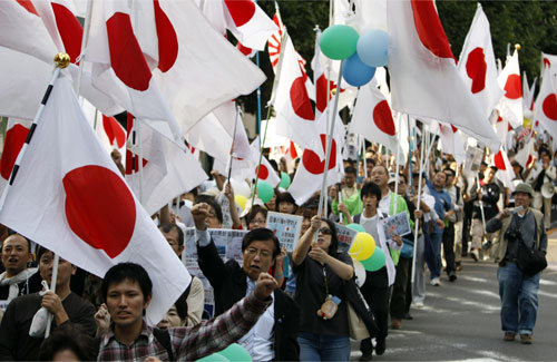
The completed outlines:
{"type": "Polygon", "coordinates": [[[520,68],[518,66],[517,50],[515,50],[512,57],[507,60],[505,68],[502,68],[499,75],[498,81],[499,87],[505,90],[505,95],[497,105],[499,115],[507,119],[512,128],[517,128],[524,123],[522,85],[520,84],[520,68]]]}

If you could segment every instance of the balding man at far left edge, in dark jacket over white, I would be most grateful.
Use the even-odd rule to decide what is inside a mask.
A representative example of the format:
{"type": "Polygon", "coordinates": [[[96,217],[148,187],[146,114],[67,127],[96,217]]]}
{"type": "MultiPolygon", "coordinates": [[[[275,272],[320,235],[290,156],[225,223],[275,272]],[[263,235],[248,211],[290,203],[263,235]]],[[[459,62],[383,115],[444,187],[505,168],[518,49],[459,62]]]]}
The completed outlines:
{"type": "Polygon", "coordinates": [[[10,235],[1,250],[6,272],[0,274],[0,309],[6,311],[14,297],[38,292],[41,285],[39,277],[32,277],[37,268],[27,267],[32,260],[29,239],[19,234],[10,235]]]}

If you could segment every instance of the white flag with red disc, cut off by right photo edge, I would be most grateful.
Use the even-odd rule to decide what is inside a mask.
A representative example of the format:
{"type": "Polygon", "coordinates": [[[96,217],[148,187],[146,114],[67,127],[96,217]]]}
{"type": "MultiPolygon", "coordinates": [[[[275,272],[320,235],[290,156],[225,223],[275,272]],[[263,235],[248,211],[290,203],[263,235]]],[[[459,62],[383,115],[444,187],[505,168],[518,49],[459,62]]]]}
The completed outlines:
{"type": "Polygon", "coordinates": [[[546,67],[539,94],[534,102],[534,119],[557,138],[557,74],[546,67]]]}

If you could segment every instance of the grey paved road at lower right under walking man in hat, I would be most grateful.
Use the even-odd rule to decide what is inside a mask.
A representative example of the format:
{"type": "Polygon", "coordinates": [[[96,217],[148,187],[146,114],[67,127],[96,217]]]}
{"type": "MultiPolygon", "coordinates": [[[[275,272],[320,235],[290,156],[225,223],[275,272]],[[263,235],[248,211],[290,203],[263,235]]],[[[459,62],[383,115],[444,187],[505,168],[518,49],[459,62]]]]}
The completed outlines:
{"type": "MultiPolygon", "coordinates": [[[[444,277],[428,285],[423,309],[412,321],[389,331],[387,352],[374,361],[556,361],[557,360],[557,232],[550,234],[549,267],[543,273],[534,343],[504,342],[500,302],[492,262],[463,260],[455,283],[444,277]]],[[[361,353],[353,343],[351,359],[361,353]]]]}

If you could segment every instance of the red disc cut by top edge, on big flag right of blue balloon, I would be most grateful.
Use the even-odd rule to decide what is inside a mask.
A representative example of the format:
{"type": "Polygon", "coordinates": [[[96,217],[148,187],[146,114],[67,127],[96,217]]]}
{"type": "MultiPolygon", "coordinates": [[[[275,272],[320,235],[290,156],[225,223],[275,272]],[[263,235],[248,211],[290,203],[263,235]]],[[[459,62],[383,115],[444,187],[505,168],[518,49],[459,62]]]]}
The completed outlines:
{"type": "Polygon", "coordinates": [[[411,0],[416,31],[421,42],[439,58],[451,58],[451,47],[432,0],[411,0]]]}

